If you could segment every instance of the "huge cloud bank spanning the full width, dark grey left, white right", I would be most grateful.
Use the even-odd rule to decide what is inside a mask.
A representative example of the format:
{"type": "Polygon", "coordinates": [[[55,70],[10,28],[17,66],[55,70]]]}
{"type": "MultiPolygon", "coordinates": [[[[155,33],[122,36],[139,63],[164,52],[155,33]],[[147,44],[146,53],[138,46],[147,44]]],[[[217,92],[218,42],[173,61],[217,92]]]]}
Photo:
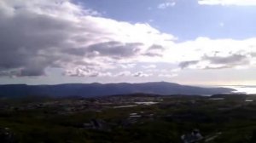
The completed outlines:
{"type": "Polygon", "coordinates": [[[199,70],[256,64],[255,37],[176,43],[148,23],[104,18],[68,0],[0,1],[0,31],[0,76],[45,76],[57,67],[72,77],[149,77],[156,63],[199,70]],[[128,73],[137,63],[146,63],[142,71],[128,73]]]}

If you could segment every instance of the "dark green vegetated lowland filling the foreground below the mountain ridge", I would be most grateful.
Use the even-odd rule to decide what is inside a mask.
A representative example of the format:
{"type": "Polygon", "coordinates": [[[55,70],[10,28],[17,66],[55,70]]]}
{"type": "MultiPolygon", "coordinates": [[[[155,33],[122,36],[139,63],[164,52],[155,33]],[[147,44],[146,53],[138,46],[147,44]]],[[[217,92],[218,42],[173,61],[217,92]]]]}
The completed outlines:
{"type": "Polygon", "coordinates": [[[199,129],[204,139],[198,142],[256,142],[254,95],[133,94],[120,101],[123,96],[1,99],[0,140],[3,143],[178,143],[183,142],[183,134],[199,129]],[[122,107],[134,105],[138,100],[158,103],[122,107]]]}

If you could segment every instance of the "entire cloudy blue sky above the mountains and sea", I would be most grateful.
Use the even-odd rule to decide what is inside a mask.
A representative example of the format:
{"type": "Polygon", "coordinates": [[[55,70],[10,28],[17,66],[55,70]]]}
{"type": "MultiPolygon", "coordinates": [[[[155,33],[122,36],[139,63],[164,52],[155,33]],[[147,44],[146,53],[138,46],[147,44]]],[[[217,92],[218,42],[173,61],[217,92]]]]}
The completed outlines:
{"type": "Polygon", "coordinates": [[[256,85],[256,0],[1,0],[0,84],[256,85]]]}

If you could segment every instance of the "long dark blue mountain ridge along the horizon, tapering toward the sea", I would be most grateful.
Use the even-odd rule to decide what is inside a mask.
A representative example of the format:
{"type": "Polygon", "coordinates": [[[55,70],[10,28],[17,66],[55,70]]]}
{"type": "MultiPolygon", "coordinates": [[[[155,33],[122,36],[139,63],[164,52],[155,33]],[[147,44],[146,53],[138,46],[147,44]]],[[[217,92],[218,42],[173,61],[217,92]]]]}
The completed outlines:
{"type": "Polygon", "coordinates": [[[0,85],[0,96],[48,95],[48,96],[104,96],[113,94],[230,94],[235,89],[201,88],[177,83],[66,83],[56,85],[0,85]]]}

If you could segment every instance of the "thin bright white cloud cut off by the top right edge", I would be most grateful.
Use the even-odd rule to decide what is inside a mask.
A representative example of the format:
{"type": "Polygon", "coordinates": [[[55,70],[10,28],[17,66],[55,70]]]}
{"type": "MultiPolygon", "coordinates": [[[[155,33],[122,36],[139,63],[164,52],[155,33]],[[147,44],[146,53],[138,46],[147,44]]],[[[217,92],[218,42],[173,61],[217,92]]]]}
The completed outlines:
{"type": "Polygon", "coordinates": [[[204,5],[256,6],[256,0],[198,0],[198,3],[204,5]]]}

